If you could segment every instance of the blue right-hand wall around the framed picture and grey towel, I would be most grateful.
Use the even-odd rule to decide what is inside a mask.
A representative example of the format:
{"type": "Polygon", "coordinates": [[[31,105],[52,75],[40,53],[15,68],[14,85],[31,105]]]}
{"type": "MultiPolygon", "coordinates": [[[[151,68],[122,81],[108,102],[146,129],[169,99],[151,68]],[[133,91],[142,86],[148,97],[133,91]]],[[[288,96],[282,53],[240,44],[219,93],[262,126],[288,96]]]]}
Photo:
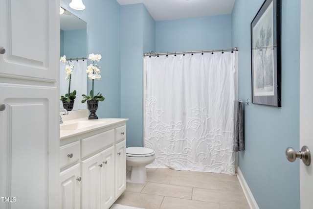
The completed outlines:
{"type": "MultiPolygon", "coordinates": [[[[239,47],[239,98],[251,101],[250,23],[264,0],[236,0],[232,46],[239,47]]],[[[282,107],[245,106],[246,151],[239,167],[260,209],[299,209],[299,162],[285,150],[299,150],[300,2],[282,0],[282,107]]]]}

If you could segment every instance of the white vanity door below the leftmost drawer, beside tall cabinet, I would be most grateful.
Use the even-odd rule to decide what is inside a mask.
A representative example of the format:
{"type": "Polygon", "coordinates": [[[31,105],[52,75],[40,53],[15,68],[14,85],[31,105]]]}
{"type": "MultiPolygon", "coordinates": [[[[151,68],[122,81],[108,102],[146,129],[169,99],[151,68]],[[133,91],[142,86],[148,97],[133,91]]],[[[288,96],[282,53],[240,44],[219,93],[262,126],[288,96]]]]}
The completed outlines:
{"type": "Polygon", "coordinates": [[[80,163],[60,173],[60,209],[80,209],[80,163]]]}

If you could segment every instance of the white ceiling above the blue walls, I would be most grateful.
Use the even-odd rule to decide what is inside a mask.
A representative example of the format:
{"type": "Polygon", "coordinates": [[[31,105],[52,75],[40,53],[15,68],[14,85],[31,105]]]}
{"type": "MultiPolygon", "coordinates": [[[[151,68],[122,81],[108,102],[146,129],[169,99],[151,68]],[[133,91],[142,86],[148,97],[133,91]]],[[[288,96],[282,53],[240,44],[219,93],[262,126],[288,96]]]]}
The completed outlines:
{"type": "Polygon", "coordinates": [[[235,0],[117,0],[143,3],[155,21],[231,14],[235,0]]]}

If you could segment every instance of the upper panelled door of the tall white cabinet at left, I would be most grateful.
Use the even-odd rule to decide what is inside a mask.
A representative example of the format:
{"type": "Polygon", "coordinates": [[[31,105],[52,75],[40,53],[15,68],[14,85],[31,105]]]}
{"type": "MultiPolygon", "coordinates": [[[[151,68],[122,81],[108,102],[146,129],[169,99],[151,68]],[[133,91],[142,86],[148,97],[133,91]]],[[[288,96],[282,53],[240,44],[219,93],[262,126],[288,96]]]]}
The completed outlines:
{"type": "Polygon", "coordinates": [[[59,6],[59,0],[0,0],[0,77],[57,80],[59,6]]]}

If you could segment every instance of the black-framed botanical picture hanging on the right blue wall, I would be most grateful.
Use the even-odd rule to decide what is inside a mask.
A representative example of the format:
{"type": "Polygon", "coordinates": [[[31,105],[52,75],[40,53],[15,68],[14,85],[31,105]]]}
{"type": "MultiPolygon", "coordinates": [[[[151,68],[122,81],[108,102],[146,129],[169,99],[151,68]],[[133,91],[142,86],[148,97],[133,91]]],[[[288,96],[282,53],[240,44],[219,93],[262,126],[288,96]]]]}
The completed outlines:
{"type": "Polygon", "coordinates": [[[265,0],[251,22],[252,103],[281,107],[281,0],[265,0]]]}

